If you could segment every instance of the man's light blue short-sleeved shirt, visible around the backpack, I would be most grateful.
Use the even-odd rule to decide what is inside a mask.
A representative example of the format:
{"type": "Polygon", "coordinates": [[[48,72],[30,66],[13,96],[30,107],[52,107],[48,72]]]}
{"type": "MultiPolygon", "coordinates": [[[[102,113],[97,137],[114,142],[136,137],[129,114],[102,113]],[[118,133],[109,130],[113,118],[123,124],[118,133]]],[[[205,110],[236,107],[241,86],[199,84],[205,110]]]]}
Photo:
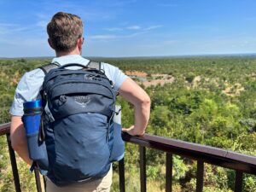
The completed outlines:
{"type": "MultiPolygon", "coordinates": [[[[52,62],[59,63],[61,66],[68,63],[79,63],[86,66],[89,63],[89,60],[81,55],[66,55],[55,57],[52,62]]],[[[105,71],[108,79],[113,81],[113,90],[115,91],[119,90],[121,84],[128,78],[118,67],[113,67],[108,63],[102,62],[102,70],[105,71]]],[[[14,102],[9,113],[15,116],[22,116],[23,102],[31,102],[41,99],[39,91],[42,89],[43,82],[44,72],[41,69],[37,68],[25,73],[17,85],[14,102]]]]}

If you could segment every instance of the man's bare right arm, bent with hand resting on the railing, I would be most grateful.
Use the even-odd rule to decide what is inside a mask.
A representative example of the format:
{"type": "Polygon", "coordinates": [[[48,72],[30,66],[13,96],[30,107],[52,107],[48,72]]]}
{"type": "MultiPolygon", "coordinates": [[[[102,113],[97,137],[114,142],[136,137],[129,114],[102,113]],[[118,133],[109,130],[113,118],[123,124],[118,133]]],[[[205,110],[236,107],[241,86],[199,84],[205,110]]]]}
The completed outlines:
{"type": "Polygon", "coordinates": [[[123,131],[132,136],[142,136],[145,133],[150,115],[150,98],[148,94],[132,79],[125,79],[119,87],[119,94],[134,106],[134,125],[123,131]]]}

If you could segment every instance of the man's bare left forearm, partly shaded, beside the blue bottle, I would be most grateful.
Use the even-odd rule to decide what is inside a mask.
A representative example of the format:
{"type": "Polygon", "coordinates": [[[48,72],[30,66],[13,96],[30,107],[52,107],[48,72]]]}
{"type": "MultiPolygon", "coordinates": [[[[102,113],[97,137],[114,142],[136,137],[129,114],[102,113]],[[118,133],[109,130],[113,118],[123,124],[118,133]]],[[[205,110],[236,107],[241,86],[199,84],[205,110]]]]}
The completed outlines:
{"type": "Polygon", "coordinates": [[[28,155],[26,133],[20,116],[12,116],[10,138],[12,147],[15,149],[17,154],[19,154],[27,164],[32,165],[32,160],[28,155]]]}

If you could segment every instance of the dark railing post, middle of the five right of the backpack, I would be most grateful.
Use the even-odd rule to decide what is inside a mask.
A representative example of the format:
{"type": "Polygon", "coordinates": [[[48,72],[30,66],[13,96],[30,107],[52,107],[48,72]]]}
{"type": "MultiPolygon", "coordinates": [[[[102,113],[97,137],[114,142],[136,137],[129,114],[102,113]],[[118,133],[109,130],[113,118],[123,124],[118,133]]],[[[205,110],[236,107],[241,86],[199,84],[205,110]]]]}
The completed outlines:
{"type": "Polygon", "coordinates": [[[172,192],[172,154],[166,153],[166,192],[172,192]]]}

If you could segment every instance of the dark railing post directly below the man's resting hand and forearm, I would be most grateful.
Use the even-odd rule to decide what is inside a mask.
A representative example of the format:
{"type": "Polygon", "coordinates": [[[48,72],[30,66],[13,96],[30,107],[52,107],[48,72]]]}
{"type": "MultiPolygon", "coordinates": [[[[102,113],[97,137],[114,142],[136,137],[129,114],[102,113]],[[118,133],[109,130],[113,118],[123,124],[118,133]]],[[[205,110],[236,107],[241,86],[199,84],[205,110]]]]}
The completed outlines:
{"type": "Polygon", "coordinates": [[[147,191],[147,176],[146,176],[146,148],[140,146],[140,178],[141,178],[141,192],[147,191]]]}

